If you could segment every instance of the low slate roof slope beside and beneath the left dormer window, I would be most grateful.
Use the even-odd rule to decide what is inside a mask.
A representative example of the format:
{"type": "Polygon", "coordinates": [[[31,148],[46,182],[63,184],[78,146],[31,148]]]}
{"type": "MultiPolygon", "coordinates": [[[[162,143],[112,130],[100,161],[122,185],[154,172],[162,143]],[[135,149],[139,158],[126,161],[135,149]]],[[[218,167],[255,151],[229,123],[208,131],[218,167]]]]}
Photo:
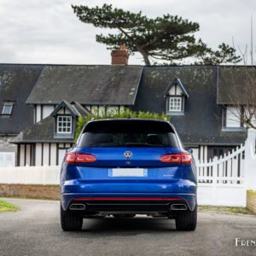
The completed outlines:
{"type": "Polygon", "coordinates": [[[12,143],[73,143],[73,138],[54,137],[54,118],[48,116],[30,125],[12,140],[12,143]]]}

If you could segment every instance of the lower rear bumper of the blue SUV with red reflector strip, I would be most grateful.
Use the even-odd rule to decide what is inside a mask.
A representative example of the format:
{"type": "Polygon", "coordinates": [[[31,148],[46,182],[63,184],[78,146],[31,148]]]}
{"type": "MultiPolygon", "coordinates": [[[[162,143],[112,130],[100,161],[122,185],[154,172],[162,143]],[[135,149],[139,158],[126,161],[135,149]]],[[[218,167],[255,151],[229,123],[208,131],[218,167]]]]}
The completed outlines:
{"type": "Polygon", "coordinates": [[[184,204],[193,211],[196,195],[186,193],[64,193],[61,205],[83,204],[87,212],[170,212],[172,204],[184,204]]]}

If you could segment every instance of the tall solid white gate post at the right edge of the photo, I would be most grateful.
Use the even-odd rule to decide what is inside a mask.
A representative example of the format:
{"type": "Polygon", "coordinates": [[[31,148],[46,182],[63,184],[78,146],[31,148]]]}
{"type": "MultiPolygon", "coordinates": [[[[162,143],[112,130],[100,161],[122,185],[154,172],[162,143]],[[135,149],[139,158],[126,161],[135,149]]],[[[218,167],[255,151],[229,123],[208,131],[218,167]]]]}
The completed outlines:
{"type": "Polygon", "coordinates": [[[256,155],[255,155],[256,130],[247,131],[244,159],[244,183],[245,189],[256,190],[256,155]]]}

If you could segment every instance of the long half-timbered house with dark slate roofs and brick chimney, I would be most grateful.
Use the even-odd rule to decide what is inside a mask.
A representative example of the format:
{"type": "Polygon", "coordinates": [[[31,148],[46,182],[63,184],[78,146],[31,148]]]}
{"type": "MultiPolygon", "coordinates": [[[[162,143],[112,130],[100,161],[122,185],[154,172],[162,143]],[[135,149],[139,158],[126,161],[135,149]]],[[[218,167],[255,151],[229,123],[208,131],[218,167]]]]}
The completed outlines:
{"type": "Polygon", "coordinates": [[[1,65],[0,151],[15,152],[17,166],[60,165],[73,146],[79,115],[113,108],[166,113],[200,160],[245,142],[245,128],[225,101],[234,67],[127,63],[127,51],[119,49],[109,66],[1,65]]]}

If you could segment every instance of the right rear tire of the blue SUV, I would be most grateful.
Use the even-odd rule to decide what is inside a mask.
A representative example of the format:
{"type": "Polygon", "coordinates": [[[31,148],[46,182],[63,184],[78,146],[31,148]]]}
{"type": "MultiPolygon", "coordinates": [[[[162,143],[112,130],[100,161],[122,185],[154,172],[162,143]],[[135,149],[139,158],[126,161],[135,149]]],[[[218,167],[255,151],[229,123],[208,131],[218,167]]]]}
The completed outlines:
{"type": "Polygon", "coordinates": [[[197,222],[197,206],[194,211],[180,212],[175,221],[177,230],[194,231],[197,222]]]}

